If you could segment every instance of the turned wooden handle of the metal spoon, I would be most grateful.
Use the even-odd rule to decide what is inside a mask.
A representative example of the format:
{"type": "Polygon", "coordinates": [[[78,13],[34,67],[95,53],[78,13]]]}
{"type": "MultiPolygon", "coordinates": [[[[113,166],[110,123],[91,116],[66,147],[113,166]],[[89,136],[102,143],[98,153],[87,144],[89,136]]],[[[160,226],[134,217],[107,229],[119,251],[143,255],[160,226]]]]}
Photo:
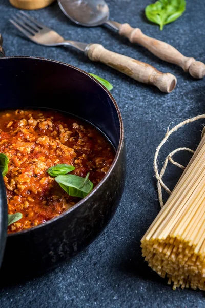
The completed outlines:
{"type": "Polygon", "coordinates": [[[119,34],[128,37],[131,43],[144,46],[160,59],[182,67],[194,78],[200,79],[205,76],[205,64],[203,62],[184,56],[173,46],[145,35],[139,28],[134,29],[129,24],[122,24],[119,26],[119,34]]]}

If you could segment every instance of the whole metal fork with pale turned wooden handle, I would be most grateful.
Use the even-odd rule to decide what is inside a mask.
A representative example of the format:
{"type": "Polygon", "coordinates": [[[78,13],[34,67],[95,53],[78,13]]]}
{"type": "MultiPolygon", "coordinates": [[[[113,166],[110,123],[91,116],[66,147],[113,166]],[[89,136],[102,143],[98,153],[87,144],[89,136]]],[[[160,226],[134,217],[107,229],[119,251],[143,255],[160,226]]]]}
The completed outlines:
{"type": "Polygon", "coordinates": [[[9,21],[36,44],[50,47],[72,46],[83,51],[90,60],[103,62],[139,82],[155,85],[162,92],[170,93],[176,86],[176,77],[170,73],[162,73],[147,63],[107,50],[100,44],[64,40],[57,32],[30,17],[24,11],[20,11],[9,21]]]}

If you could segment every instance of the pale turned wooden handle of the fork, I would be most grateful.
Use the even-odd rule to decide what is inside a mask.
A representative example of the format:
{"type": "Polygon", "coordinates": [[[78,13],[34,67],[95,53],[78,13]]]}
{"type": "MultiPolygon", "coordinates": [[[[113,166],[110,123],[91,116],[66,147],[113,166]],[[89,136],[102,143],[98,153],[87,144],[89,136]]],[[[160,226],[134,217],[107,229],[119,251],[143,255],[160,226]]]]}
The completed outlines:
{"type": "Polygon", "coordinates": [[[139,82],[156,86],[162,92],[170,93],[176,86],[174,75],[164,74],[147,63],[107,50],[100,44],[91,44],[86,54],[90,60],[103,62],[139,82]]]}

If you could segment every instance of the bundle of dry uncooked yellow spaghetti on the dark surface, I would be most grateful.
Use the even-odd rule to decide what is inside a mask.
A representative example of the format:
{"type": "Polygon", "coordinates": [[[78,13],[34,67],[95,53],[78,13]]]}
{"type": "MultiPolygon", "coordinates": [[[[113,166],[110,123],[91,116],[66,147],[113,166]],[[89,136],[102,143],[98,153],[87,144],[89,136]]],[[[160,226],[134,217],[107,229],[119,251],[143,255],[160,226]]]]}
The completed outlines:
{"type": "Polygon", "coordinates": [[[174,289],[205,290],[205,136],[141,247],[149,266],[174,289]]]}

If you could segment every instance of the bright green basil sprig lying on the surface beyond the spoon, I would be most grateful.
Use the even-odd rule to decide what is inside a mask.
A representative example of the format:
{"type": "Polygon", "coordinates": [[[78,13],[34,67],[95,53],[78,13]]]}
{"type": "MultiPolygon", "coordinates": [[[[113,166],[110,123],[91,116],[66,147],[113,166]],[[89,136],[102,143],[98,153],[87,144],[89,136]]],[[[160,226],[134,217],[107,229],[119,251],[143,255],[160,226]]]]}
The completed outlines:
{"type": "Polygon", "coordinates": [[[186,10],[186,0],[159,0],[145,9],[149,21],[158,24],[160,30],[163,26],[174,22],[186,10]]]}

